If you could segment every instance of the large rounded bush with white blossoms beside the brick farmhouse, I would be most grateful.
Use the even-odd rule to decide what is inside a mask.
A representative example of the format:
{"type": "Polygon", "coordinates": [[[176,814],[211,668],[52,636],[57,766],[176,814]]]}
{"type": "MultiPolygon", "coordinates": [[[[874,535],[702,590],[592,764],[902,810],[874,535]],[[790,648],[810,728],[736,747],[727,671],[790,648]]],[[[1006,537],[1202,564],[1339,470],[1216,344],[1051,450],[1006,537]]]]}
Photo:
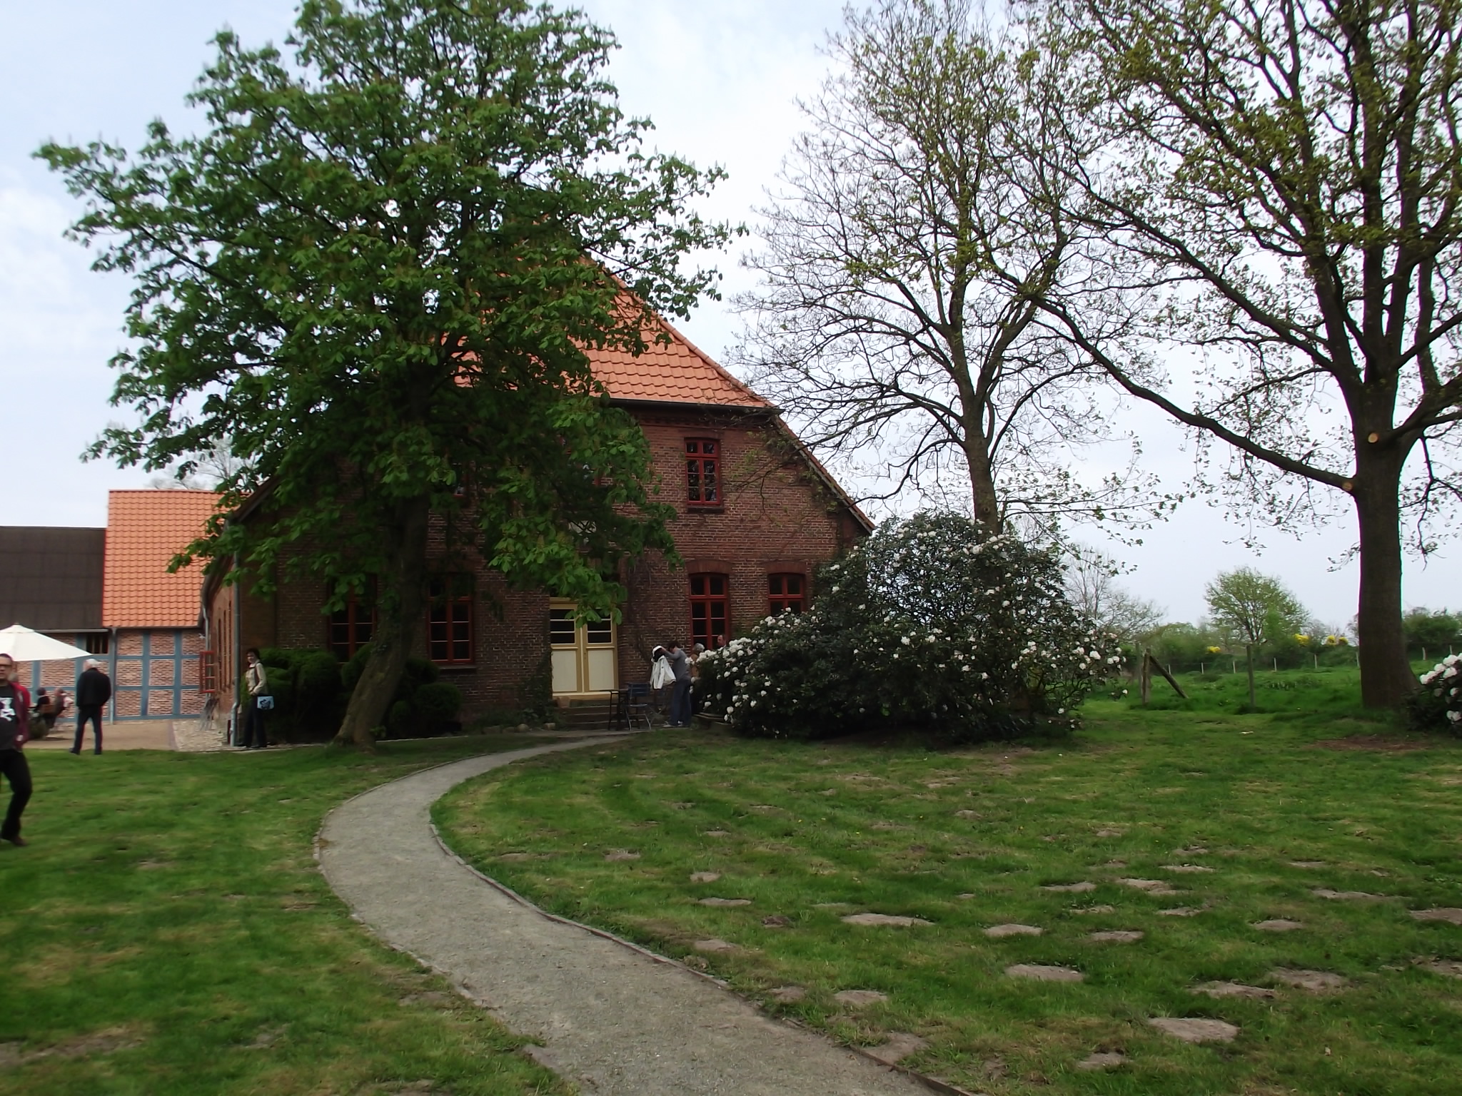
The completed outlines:
{"type": "MultiPolygon", "coordinates": [[[[969,519],[879,526],[822,568],[811,608],[702,656],[697,710],[749,735],[927,728],[958,739],[1075,725],[1121,663],[1067,601],[1061,566],[969,519]]],[[[1108,646],[1110,643],[1110,646],[1108,646]]]]}

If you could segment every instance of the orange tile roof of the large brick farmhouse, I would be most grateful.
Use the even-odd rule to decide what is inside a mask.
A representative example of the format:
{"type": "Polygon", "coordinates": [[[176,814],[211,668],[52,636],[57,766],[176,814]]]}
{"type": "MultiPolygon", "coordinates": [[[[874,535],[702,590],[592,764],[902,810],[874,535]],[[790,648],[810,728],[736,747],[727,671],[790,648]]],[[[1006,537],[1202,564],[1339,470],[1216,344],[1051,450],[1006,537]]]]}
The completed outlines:
{"type": "Polygon", "coordinates": [[[637,358],[626,351],[589,351],[589,368],[611,399],[772,409],[665,320],[655,321],[670,342],[654,342],[646,332],[651,342],[637,358]]]}

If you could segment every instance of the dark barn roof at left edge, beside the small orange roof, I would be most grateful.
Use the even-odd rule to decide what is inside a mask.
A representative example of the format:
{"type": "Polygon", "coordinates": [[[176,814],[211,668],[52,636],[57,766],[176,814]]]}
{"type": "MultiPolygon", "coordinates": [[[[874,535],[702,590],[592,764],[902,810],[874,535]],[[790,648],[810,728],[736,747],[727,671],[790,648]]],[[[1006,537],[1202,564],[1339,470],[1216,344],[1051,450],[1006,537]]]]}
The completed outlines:
{"type": "Polygon", "coordinates": [[[105,548],[105,529],[0,526],[0,628],[99,628],[105,548]]]}

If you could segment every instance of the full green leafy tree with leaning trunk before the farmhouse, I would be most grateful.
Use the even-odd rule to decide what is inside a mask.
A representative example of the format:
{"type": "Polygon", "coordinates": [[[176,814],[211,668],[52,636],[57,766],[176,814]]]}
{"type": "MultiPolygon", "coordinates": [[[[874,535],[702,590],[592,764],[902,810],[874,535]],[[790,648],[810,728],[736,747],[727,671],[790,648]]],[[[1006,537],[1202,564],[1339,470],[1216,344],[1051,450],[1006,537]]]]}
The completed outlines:
{"type": "Polygon", "coordinates": [[[596,612],[623,555],[673,551],[645,438],[585,351],[639,352],[648,307],[712,288],[680,259],[727,237],[686,209],[718,172],[642,151],[604,77],[614,39],[579,12],[306,0],[292,58],[215,41],[197,136],[155,121],[136,156],[38,153],[86,200],[96,269],[136,281],[113,399],[140,422],[92,454],[187,476],[228,438],[246,462],[224,506],[257,510],[190,554],[266,589],[288,557],[332,606],[374,580],[341,728],[368,748],[424,611],[430,516],[596,612]]]}

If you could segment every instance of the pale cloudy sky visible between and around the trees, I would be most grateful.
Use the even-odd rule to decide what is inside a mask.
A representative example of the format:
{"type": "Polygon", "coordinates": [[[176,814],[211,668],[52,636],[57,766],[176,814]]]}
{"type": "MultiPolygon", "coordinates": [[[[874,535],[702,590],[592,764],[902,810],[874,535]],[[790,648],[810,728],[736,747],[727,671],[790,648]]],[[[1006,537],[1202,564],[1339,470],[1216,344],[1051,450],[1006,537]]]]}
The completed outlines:
{"type": "MultiPolygon", "coordinates": [[[[795,99],[825,70],[825,34],[841,19],[835,0],[589,0],[621,50],[614,77],[632,114],[649,115],[655,143],[731,178],[709,215],[751,221],[763,187],[801,121],[795,99]]],[[[88,254],[61,238],[76,205],[31,158],[45,139],[140,143],[158,115],[186,127],[181,99],[211,56],[208,39],[231,26],[244,41],[279,42],[291,0],[0,0],[0,488],[3,525],[104,525],[107,490],[145,487],[140,469],[82,463],[79,453],[111,418],[108,357],[120,343],[129,285],[88,270],[88,254]]],[[[750,288],[738,251],[721,260],[728,292],[750,288]]],[[[706,304],[684,324],[703,349],[722,354],[737,319],[706,304]]],[[[1181,437],[1152,412],[1124,422],[1143,438],[1152,471],[1170,490],[1192,472],[1181,437]]],[[[1184,506],[1143,533],[1140,548],[1113,548],[1135,570],[1126,583],[1167,606],[1174,620],[1203,614],[1203,583],[1249,564],[1281,576],[1322,621],[1355,612],[1355,567],[1330,570],[1345,552],[1349,522],[1303,541],[1268,538],[1262,552],[1237,542],[1243,516],[1184,506]]],[[[1102,544],[1099,538],[1088,538],[1102,544]]],[[[1462,606],[1447,560],[1408,561],[1408,605],[1462,606]]]]}

